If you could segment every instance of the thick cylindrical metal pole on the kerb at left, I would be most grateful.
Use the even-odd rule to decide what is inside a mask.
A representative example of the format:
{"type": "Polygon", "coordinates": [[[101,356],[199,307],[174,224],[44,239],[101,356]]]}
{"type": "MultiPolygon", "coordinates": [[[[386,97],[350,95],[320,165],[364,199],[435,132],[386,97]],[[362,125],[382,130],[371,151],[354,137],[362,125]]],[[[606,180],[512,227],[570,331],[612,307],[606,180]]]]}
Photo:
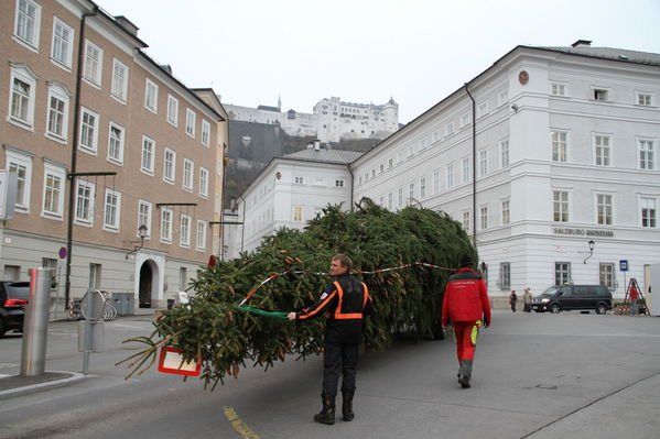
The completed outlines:
{"type": "Polygon", "coordinates": [[[30,298],[23,322],[21,376],[36,376],[45,372],[50,296],[51,271],[30,268],[30,298]]]}

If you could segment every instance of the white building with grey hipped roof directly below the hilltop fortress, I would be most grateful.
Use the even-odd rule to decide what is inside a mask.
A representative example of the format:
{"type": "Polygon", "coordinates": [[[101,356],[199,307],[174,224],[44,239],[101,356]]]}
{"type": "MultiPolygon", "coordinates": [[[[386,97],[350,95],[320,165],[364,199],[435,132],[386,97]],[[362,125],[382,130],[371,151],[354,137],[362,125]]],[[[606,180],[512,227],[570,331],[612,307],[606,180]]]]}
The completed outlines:
{"type": "Polygon", "coordinates": [[[350,208],[351,179],[348,164],[360,156],[353,151],[312,149],[275,157],[236,200],[234,229],[227,227],[227,259],[253,251],[263,237],[288,227],[303,229],[329,205],[350,208]]]}

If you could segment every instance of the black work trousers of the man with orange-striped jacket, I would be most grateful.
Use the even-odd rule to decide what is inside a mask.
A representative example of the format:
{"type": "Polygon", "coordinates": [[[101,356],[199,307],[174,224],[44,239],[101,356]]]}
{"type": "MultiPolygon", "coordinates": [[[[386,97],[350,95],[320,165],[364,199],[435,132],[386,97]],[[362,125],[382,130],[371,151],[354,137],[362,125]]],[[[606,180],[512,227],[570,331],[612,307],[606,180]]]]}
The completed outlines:
{"type": "Polygon", "coordinates": [[[355,370],[357,367],[357,355],[359,344],[325,342],[323,353],[323,393],[331,399],[337,396],[339,373],[342,380],[342,392],[355,393],[355,370]]]}

